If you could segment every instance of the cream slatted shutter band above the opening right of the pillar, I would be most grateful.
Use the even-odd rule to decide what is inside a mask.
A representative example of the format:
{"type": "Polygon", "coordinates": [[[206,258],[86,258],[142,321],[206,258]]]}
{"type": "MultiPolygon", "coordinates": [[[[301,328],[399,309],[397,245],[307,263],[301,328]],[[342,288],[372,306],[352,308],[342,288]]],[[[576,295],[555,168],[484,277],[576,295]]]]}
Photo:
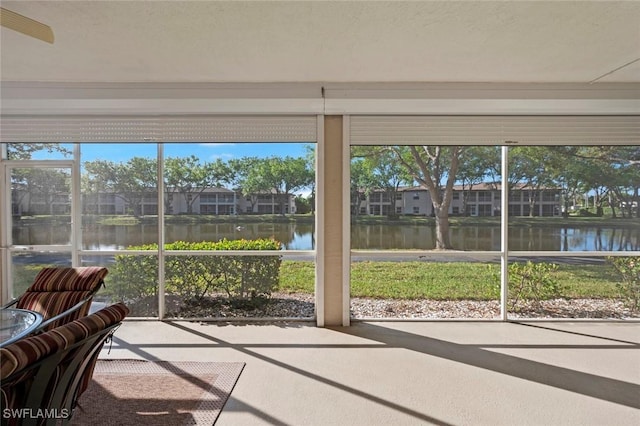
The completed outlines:
{"type": "Polygon", "coordinates": [[[637,145],[640,116],[352,116],[353,145],[637,145]]]}

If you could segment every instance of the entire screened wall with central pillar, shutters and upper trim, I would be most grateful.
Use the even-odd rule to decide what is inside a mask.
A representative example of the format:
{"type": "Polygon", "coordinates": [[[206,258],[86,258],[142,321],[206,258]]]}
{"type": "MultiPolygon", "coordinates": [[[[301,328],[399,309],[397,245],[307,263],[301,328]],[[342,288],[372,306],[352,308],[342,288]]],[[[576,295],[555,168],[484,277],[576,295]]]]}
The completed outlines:
{"type": "Polygon", "coordinates": [[[636,90],[5,83],[5,297],[101,265],[135,317],[633,318],[636,90]]]}

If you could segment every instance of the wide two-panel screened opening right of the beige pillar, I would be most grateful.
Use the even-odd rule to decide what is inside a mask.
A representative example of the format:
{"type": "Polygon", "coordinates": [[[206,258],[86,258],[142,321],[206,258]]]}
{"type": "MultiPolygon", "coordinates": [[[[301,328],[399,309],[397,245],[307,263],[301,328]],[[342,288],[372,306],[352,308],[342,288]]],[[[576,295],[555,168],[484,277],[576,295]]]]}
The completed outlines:
{"type": "Polygon", "coordinates": [[[350,159],[352,318],[640,316],[637,145],[367,145],[363,123],[350,159]],[[384,193],[406,195],[385,211],[384,193]]]}

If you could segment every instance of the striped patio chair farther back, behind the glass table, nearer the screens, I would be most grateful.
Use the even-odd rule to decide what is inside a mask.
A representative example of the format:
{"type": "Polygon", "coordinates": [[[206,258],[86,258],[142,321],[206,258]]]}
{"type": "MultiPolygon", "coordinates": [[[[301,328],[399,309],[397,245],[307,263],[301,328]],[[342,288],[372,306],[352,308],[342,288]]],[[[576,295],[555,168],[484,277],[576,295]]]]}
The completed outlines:
{"type": "Polygon", "coordinates": [[[38,331],[47,331],[86,316],[93,296],[109,271],[98,266],[44,268],[18,299],[5,307],[38,312],[44,317],[38,331]]]}

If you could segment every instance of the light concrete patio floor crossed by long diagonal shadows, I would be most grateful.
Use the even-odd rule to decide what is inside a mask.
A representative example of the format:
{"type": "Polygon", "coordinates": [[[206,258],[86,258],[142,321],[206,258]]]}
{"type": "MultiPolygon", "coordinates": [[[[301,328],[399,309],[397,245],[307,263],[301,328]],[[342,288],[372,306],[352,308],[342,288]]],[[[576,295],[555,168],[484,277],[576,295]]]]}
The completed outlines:
{"type": "Polygon", "coordinates": [[[127,321],[101,358],[243,361],[216,425],[640,424],[632,322],[127,321]]]}

